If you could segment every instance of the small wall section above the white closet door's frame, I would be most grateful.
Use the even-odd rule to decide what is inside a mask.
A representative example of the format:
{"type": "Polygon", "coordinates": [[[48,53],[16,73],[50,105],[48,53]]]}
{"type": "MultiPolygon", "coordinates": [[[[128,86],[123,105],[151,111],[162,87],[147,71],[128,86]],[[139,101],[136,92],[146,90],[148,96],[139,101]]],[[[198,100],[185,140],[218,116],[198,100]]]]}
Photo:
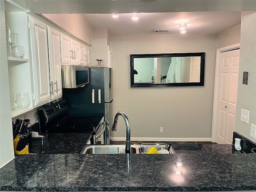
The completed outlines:
{"type": "Polygon", "coordinates": [[[232,27],[218,34],[217,48],[240,43],[241,25],[232,27]]]}

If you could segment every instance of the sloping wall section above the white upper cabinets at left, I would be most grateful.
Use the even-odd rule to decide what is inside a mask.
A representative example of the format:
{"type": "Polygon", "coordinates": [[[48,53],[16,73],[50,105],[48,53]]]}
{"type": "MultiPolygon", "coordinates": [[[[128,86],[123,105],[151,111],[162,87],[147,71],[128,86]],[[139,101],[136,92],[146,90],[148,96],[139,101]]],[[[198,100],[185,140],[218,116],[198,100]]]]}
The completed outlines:
{"type": "Polygon", "coordinates": [[[80,40],[92,45],[92,27],[82,14],[42,14],[80,40]]]}

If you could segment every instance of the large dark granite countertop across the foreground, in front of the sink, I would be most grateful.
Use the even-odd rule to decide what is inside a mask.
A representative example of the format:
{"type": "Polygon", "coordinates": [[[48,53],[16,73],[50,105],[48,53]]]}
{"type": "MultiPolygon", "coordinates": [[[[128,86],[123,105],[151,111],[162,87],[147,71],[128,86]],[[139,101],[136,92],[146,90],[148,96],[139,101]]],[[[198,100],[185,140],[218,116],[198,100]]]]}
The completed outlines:
{"type": "MultiPolygon", "coordinates": [[[[173,147],[184,152],[185,146],[173,147]]],[[[197,152],[177,154],[19,155],[0,169],[0,190],[256,190],[256,155],[225,153],[229,147],[203,144],[197,152]]]]}

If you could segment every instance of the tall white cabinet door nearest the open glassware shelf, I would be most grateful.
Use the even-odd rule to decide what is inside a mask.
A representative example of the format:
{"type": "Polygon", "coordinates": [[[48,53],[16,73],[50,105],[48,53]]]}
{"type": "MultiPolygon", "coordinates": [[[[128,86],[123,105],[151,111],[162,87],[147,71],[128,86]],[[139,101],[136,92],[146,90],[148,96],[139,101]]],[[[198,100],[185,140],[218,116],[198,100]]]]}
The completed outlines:
{"type": "Polygon", "coordinates": [[[46,24],[30,16],[30,43],[35,106],[50,101],[46,24]]]}

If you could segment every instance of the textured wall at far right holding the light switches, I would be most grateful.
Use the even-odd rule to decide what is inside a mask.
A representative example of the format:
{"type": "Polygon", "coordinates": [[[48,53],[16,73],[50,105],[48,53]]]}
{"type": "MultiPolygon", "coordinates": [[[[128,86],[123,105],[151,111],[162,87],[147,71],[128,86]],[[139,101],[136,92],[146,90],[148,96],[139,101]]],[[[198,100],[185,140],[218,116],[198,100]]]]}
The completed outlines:
{"type": "Polygon", "coordinates": [[[242,12],[236,114],[235,130],[256,142],[250,137],[250,124],[256,125],[256,12],[242,12]],[[242,84],[244,71],[249,71],[248,85],[242,84]],[[250,111],[249,124],[240,121],[241,108],[250,111]]]}

